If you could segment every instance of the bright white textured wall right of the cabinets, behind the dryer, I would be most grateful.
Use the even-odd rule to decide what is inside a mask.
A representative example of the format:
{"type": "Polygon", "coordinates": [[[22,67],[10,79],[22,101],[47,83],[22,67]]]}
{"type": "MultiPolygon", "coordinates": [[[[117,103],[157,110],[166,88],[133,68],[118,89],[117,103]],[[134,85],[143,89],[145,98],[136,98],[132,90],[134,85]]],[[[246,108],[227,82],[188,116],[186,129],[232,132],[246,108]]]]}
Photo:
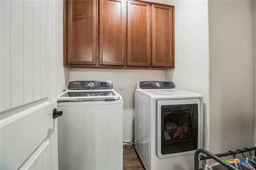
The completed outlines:
{"type": "Polygon", "coordinates": [[[175,6],[175,69],[166,80],[204,97],[204,148],[209,128],[209,41],[207,1],[166,1],[175,6]]]}

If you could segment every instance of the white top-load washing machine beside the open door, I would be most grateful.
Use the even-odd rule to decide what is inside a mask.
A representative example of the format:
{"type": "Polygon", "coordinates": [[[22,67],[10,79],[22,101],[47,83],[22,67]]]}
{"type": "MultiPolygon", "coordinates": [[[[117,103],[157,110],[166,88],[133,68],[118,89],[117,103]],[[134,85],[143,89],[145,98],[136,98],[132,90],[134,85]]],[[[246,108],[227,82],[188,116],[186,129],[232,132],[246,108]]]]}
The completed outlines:
{"type": "Polygon", "coordinates": [[[60,170],[123,168],[123,100],[112,81],[69,81],[57,97],[60,170]]]}

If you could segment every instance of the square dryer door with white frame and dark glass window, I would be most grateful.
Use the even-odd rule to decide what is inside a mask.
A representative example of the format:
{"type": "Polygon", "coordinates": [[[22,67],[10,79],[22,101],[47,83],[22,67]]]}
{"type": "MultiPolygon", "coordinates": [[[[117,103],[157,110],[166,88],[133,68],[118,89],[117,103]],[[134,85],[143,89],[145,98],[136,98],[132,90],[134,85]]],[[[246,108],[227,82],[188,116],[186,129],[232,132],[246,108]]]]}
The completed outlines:
{"type": "Polygon", "coordinates": [[[157,101],[157,155],[172,158],[194,154],[200,146],[200,100],[157,101]]]}

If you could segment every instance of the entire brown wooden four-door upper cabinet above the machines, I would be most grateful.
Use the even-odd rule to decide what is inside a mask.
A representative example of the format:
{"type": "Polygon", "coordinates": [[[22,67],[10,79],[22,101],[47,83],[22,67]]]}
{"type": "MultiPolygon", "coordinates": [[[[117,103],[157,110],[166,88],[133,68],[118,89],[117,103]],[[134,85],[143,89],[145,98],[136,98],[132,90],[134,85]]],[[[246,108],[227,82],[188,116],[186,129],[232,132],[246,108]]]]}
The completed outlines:
{"type": "Polygon", "coordinates": [[[174,6],[139,0],[64,0],[64,65],[174,68],[174,6]]]}

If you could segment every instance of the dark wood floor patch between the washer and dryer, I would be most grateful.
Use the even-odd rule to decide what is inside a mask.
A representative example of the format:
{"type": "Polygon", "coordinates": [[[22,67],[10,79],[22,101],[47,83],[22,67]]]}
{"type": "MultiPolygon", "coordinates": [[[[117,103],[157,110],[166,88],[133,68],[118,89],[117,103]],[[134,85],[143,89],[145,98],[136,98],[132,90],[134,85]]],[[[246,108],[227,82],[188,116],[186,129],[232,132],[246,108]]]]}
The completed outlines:
{"type": "MultiPolygon", "coordinates": [[[[123,170],[145,170],[144,166],[140,162],[140,158],[134,149],[134,145],[131,146],[132,149],[127,150],[125,146],[123,147],[124,156],[123,156],[123,170]]],[[[128,146],[128,149],[130,147],[128,146]]]]}

